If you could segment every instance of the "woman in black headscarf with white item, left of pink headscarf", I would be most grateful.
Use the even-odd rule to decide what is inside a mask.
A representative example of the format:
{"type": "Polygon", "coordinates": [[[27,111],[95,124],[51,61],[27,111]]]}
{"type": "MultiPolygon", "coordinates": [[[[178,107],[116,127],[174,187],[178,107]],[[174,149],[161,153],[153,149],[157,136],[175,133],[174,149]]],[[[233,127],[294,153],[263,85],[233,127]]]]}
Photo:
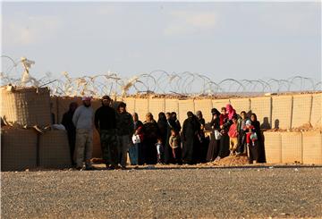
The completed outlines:
{"type": "Polygon", "coordinates": [[[219,121],[220,112],[216,108],[213,108],[211,110],[211,114],[213,117],[210,122],[211,136],[210,136],[210,143],[208,146],[208,153],[207,153],[208,162],[212,162],[216,159],[216,157],[218,156],[218,147],[220,144],[220,139],[215,138],[215,131],[220,131],[220,121],[219,121]]]}

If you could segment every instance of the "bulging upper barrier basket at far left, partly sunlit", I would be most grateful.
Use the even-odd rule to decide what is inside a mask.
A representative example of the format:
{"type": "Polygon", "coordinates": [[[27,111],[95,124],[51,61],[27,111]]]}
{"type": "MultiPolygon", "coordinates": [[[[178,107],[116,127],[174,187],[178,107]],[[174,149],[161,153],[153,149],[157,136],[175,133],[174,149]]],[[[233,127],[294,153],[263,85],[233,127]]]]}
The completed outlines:
{"type": "Polygon", "coordinates": [[[48,88],[0,88],[1,116],[8,123],[21,126],[50,125],[50,95],[48,88]]]}

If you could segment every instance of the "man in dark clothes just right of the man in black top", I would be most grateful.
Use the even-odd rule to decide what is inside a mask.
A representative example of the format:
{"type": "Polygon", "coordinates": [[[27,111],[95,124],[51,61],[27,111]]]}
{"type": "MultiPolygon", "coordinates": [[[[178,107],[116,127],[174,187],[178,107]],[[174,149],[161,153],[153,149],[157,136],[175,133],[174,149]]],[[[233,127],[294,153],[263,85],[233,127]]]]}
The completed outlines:
{"type": "Polygon", "coordinates": [[[121,103],[117,107],[117,136],[119,140],[118,152],[119,163],[122,168],[126,168],[127,152],[131,142],[131,136],[134,132],[134,122],[131,114],[126,112],[126,104],[121,103]]]}

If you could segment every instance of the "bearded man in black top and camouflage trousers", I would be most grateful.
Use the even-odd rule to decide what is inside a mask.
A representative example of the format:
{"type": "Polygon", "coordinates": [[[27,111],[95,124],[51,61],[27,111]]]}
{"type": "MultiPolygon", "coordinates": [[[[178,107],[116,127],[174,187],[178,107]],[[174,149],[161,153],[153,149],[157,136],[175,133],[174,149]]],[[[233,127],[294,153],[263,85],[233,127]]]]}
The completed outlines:
{"type": "Polygon", "coordinates": [[[95,127],[100,135],[103,159],[108,169],[115,169],[118,163],[118,139],[116,130],[116,112],[110,106],[111,98],[102,97],[102,106],[95,113],[95,127]]]}

